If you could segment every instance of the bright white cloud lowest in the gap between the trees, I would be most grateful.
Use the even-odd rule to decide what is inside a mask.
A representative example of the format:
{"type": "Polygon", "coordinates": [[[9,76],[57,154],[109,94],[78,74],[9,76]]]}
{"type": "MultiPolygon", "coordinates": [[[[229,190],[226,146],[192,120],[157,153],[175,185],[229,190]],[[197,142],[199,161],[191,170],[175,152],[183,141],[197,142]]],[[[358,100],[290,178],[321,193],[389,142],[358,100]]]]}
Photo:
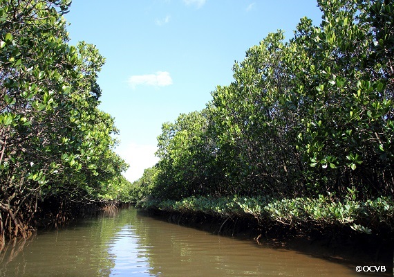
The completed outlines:
{"type": "Polygon", "coordinates": [[[141,145],[131,143],[125,147],[119,147],[116,152],[129,163],[130,168],[124,172],[124,177],[129,181],[140,179],[144,174],[144,169],[151,168],[158,163],[158,157],[155,157],[156,146],[141,145]]]}

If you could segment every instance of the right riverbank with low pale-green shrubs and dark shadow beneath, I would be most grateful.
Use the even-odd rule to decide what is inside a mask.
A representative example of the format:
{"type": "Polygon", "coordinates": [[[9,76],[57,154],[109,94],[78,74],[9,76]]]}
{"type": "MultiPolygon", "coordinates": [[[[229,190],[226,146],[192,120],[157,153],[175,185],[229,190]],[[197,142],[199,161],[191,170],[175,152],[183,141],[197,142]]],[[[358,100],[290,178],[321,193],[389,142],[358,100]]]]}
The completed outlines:
{"type": "Polygon", "coordinates": [[[210,233],[351,265],[384,265],[391,270],[393,211],[387,201],[391,200],[341,203],[322,197],[280,202],[256,197],[190,197],[179,202],[150,199],[138,205],[162,220],[210,233]],[[317,213],[324,217],[317,217],[317,213]]]}

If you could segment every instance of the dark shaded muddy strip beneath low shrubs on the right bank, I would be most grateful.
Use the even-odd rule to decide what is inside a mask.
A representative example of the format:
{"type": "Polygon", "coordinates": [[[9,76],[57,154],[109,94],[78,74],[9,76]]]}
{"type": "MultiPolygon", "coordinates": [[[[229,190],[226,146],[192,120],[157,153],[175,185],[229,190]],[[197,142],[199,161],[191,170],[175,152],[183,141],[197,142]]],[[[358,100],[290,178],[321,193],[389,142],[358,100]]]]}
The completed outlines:
{"type": "Polygon", "coordinates": [[[335,260],[349,267],[357,265],[385,266],[393,274],[394,240],[391,237],[355,233],[350,228],[318,228],[303,226],[295,229],[276,222],[257,222],[252,216],[214,217],[204,213],[177,213],[140,210],[158,220],[200,229],[217,235],[229,235],[275,249],[299,251],[317,258],[335,260]]]}

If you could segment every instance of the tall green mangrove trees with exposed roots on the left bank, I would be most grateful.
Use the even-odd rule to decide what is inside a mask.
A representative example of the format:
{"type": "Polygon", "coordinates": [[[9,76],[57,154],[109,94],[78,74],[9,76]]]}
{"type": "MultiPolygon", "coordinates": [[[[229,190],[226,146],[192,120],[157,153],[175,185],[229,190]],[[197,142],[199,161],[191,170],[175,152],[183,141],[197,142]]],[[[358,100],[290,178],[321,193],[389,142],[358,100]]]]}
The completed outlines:
{"type": "Polygon", "coordinates": [[[68,44],[70,3],[0,0],[0,249],[28,235],[45,202],[62,220],[67,205],[129,201],[118,131],[97,108],[104,58],[68,44]]]}

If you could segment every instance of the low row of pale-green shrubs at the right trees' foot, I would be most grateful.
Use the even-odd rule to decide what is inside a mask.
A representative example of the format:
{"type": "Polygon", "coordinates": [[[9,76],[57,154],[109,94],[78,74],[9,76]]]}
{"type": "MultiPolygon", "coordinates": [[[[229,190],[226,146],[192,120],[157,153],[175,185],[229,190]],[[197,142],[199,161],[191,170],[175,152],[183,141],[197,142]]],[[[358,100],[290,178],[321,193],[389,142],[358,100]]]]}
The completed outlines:
{"type": "MultiPolygon", "coordinates": [[[[353,192],[354,193],[354,192],[353,192]]],[[[389,197],[360,202],[348,193],[343,202],[320,195],[318,198],[270,199],[270,197],[187,197],[180,201],[151,200],[142,208],[210,215],[213,217],[255,219],[259,224],[285,224],[308,231],[312,228],[348,227],[362,233],[375,233],[382,238],[393,231],[394,205],[389,197]]]]}

